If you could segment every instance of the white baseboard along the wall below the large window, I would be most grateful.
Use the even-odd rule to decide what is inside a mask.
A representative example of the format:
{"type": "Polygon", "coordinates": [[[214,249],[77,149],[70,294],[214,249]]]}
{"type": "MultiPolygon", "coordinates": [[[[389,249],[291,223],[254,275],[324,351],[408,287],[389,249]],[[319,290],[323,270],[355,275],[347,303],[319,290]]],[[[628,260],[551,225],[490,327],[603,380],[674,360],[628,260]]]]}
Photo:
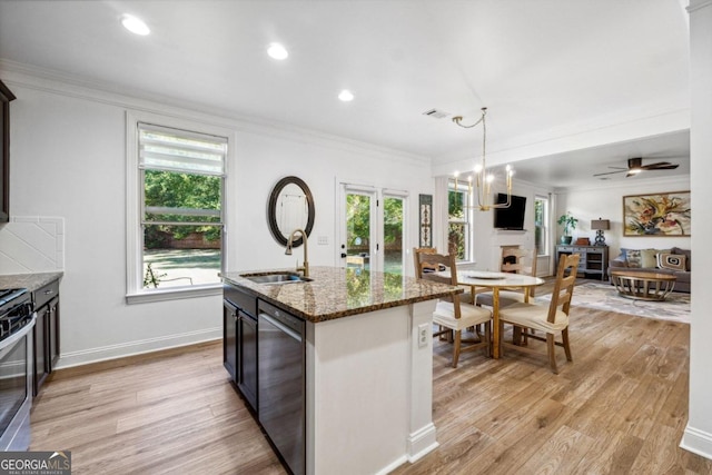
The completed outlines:
{"type": "Polygon", "coordinates": [[[169,335],[159,338],[147,338],[137,342],[109,345],[98,348],[83,349],[81,352],[62,353],[59,357],[57,369],[71,368],[73,366],[88,365],[90,363],[106,362],[108,359],[141,355],[144,353],[158,352],[160,349],[176,348],[195,345],[202,342],[211,342],[222,338],[222,327],[208,328],[198,331],[189,331],[169,335]]]}

